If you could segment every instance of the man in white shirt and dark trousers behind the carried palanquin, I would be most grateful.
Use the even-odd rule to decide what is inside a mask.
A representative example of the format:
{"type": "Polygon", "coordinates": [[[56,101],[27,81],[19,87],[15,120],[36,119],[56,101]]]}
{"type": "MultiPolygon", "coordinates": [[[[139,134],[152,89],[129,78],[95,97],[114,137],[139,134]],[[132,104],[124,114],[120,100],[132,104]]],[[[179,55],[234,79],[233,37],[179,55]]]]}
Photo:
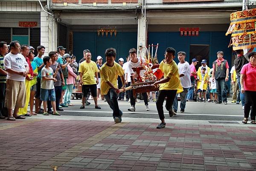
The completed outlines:
{"type": "MultiPolygon", "coordinates": [[[[140,60],[137,58],[137,50],[132,48],[132,49],[129,50],[129,54],[130,54],[131,61],[129,61],[128,64],[127,64],[127,68],[125,70],[125,78],[128,78],[129,74],[131,76],[133,76],[134,78],[137,77],[137,74],[143,75],[143,70],[141,70],[140,73],[134,72],[132,70],[132,68],[140,67],[140,60]]],[[[144,100],[144,103],[145,103],[145,107],[146,107],[145,110],[148,111],[149,110],[148,95],[147,95],[147,93],[141,93],[141,94],[143,96],[143,100],[144,100]]],[[[128,111],[135,112],[135,98],[133,96],[133,91],[132,90],[131,90],[131,93],[130,93],[130,98],[131,98],[131,107],[128,108],[128,111]]]]}

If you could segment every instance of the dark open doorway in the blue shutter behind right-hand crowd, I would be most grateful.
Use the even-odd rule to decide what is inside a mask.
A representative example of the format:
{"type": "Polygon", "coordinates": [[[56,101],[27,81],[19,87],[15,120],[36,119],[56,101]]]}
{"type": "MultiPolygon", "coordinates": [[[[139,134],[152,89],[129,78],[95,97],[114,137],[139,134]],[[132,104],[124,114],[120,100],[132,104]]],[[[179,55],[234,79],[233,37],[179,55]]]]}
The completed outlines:
{"type": "Polygon", "coordinates": [[[209,66],[210,45],[191,44],[189,49],[190,49],[189,51],[190,64],[193,58],[196,58],[196,60],[198,61],[198,64],[195,66],[196,70],[198,70],[198,68],[201,67],[201,61],[203,59],[207,60],[207,65],[209,66]]]}

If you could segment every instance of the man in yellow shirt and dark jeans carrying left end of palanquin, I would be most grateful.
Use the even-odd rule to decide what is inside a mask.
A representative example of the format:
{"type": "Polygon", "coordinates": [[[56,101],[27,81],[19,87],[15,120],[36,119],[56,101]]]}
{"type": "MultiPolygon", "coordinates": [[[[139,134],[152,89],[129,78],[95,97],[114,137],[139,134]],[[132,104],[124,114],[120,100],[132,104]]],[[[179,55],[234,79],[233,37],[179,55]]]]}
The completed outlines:
{"type": "MultiPolygon", "coordinates": [[[[106,63],[100,68],[100,76],[101,76],[101,94],[104,95],[107,100],[110,108],[113,110],[113,118],[115,123],[122,122],[122,111],[119,110],[118,106],[118,93],[120,93],[117,88],[117,77],[118,75],[121,78],[122,85],[125,85],[125,77],[124,70],[121,65],[115,62],[116,59],[116,49],[108,48],[105,52],[106,63]]],[[[122,86],[121,89],[125,90],[125,86],[122,86]]]]}

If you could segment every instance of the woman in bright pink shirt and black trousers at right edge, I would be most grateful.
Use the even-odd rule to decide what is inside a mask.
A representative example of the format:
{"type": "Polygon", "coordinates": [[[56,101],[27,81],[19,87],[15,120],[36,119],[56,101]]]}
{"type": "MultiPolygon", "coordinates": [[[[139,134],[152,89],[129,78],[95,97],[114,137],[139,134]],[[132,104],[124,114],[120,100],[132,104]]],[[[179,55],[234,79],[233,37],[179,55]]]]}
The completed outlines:
{"type": "Polygon", "coordinates": [[[256,52],[250,52],[248,55],[249,64],[245,64],[241,69],[241,93],[244,93],[244,120],[242,123],[247,124],[249,113],[251,123],[256,124],[256,52]]]}

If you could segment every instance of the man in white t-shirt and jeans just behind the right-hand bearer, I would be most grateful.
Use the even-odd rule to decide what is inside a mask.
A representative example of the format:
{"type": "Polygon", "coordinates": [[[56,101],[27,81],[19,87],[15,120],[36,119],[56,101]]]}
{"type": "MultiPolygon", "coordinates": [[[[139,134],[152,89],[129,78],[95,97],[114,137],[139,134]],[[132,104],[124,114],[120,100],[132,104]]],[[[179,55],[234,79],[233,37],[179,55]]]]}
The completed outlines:
{"type": "MultiPolygon", "coordinates": [[[[180,84],[183,87],[183,92],[180,93],[180,113],[185,112],[186,107],[186,95],[189,91],[189,87],[191,87],[191,81],[190,81],[190,65],[187,61],[185,61],[186,58],[186,52],[180,51],[177,53],[178,60],[180,61],[178,64],[179,74],[180,74],[180,84]]],[[[174,99],[173,102],[173,110],[175,113],[178,110],[178,99],[174,99]]]]}

